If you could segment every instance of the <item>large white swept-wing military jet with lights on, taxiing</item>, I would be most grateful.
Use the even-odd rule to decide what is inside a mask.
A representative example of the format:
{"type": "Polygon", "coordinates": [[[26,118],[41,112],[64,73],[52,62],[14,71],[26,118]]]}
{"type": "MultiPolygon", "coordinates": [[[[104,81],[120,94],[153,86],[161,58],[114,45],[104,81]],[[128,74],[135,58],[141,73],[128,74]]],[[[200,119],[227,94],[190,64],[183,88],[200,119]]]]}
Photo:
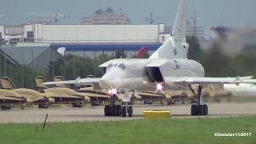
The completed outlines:
{"type": "Polygon", "coordinates": [[[170,38],[166,40],[148,59],[119,58],[103,63],[99,67],[105,72],[102,78],[77,78],[72,81],[46,82],[44,85],[54,84],[88,84],[98,83],[102,89],[109,90],[110,105],[105,106],[105,115],[122,115],[130,117],[133,109],[130,98],[138,90],[191,90],[197,96],[197,104],[191,106],[192,115],[207,115],[208,106],[202,104],[202,88],[214,84],[223,85],[254,83],[256,79],[249,78],[206,78],[203,66],[187,59],[189,45],[186,42],[186,12],[188,0],[181,0],[174,27],[170,38]],[[193,86],[192,86],[193,85],[193,86]],[[197,88],[197,93],[194,92],[197,88]],[[122,103],[116,105],[117,93],[124,92],[122,103]]]}

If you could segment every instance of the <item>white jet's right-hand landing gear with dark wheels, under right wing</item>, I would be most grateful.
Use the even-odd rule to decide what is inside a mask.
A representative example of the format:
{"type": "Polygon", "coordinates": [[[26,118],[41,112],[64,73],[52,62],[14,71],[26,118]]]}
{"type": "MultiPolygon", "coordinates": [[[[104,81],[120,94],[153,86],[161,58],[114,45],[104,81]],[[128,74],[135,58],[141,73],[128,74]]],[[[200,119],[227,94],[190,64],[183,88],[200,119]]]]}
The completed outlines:
{"type": "Polygon", "coordinates": [[[191,86],[190,90],[198,99],[198,102],[191,106],[191,115],[208,115],[208,106],[206,104],[202,104],[202,86],[198,86],[198,94],[195,94],[191,86]]]}

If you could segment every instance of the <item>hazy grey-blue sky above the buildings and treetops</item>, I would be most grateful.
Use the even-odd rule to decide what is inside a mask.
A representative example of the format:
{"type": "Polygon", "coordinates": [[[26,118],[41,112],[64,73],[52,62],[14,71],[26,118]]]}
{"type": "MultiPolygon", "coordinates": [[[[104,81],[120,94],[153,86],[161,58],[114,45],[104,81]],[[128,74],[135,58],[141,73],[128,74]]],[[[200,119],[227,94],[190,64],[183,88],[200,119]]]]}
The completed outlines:
{"type": "MultiPolygon", "coordinates": [[[[159,17],[158,22],[172,25],[179,0],[0,0],[0,14],[9,18],[0,19],[0,25],[17,25],[30,22],[26,12],[66,13],[71,18],[60,22],[79,23],[98,8],[111,6],[116,13],[129,15],[135,24],[146,23],[150,12],[159,17]]],[[[198,26],[205,26],[206,37],[211,26],[256,26],[256,0],[190,0],[189,16],[198,15],[198,26]]]]}

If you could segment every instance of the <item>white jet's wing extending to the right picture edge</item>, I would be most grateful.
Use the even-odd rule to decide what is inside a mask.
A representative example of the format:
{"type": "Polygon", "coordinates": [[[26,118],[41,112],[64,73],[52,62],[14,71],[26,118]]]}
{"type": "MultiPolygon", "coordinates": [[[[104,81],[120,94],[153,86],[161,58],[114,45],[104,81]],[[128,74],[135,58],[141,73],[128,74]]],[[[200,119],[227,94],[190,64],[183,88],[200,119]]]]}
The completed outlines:
{"type": "Polygon", "coordinates": [[[166,84],[239,84],[256,83],[256,79],[246,77],[236,78],[207,78],[207,77],[166,77],[166,84]]]}

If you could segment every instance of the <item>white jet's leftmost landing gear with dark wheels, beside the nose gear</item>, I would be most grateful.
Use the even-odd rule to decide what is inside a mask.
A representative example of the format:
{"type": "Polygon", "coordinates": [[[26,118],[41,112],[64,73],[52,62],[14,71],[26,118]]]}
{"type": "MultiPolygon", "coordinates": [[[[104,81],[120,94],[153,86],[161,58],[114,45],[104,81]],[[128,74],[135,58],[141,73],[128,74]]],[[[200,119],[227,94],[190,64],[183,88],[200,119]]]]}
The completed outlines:
{"type": "Polygon", "coordinates": [[[111,95],[110,97],[110,105],[106,105],[104,108],[105,116],[121,116],[121,105],[115,105],[115,100],[118,99],[116,94],[111,95]]]}

